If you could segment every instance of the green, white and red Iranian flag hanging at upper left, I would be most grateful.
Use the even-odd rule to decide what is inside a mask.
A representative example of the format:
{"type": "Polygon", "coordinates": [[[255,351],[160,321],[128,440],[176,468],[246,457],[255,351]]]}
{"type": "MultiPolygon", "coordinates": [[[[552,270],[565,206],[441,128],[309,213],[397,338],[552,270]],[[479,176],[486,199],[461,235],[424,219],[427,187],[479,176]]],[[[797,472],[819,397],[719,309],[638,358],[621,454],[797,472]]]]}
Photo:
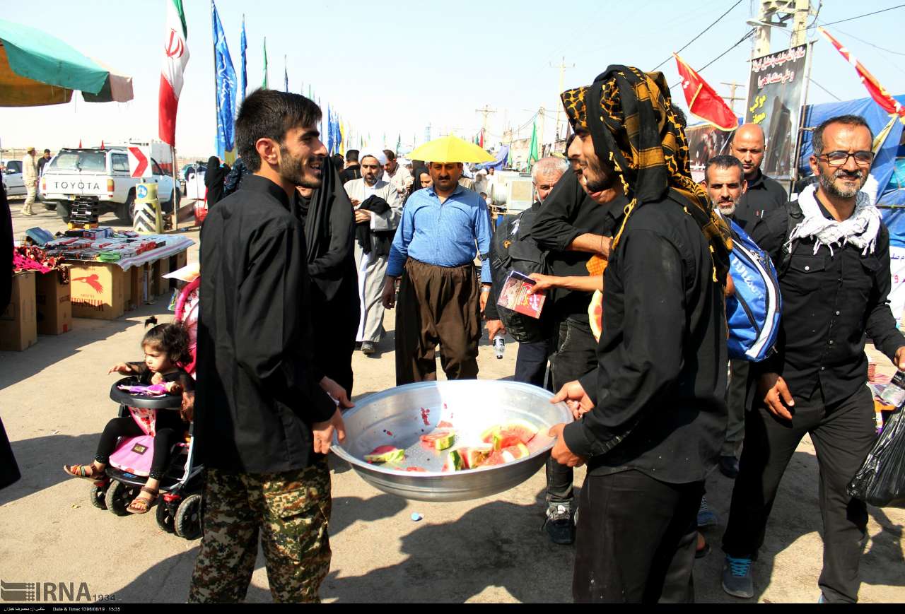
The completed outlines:
{"type": "Polygon", "coordinates": [[[188,63],[188,29],[182,0],[166,0],[167,27],[164,29],[164,67],[160,71],[160,140],[176,146],[176,107],[188,63]]]}

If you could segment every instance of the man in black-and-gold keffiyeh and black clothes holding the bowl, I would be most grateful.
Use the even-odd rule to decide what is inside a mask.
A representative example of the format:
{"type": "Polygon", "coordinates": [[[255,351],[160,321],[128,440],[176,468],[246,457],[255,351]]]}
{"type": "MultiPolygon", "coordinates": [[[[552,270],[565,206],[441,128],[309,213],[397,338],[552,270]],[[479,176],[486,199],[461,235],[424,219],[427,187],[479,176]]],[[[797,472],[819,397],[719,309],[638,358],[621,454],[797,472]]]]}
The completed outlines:
{"type": "Polygon", "coordinates": [[[662,74],[610,66],[562,99],[588,193],[630,201],[605,269],[597,369],[554,399],[580,418],[551,430],[553,457],[588,465],[573,596],[692,600],[695,520],[726,429],[729,230],[691,180],[662,74]]]}

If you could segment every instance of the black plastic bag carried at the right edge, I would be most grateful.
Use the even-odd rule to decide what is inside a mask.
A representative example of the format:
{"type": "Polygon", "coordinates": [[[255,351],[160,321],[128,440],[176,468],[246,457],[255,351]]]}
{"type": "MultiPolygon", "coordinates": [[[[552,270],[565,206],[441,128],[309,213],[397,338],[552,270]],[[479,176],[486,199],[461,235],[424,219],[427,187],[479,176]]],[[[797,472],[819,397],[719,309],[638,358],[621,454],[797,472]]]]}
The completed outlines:
{"type": "Polygon", "coordinates": [[[893,413],[871,453],[852,478],[848,494],[877,507],[905,507],[905,417],[893,413]]]}

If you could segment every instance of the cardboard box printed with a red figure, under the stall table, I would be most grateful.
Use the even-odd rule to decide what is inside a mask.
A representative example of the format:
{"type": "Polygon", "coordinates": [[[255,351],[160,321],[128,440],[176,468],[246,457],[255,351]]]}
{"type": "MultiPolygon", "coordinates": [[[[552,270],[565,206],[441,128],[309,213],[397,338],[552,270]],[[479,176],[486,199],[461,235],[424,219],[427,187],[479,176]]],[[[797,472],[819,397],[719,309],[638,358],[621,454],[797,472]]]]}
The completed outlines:
{"type": "Polygon", "coordinates": [[[123,314],[125,274],[118,264],[80,262],[70,269],[72,316],[101,320],[123,314]]]}

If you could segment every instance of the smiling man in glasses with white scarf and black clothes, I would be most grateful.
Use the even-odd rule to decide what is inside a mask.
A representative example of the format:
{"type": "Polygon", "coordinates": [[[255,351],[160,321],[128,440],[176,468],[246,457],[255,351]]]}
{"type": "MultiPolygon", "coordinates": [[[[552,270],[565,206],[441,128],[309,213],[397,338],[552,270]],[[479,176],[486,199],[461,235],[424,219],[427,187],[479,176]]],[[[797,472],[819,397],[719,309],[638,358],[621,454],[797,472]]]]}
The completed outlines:
{"type": "MultiPolygon", "coordinates": [[[[865,334],[905,369],[905,337],[890,293],[890,235],[862,187],[873,160],[871,128],[839,116],[814,130],[809,185],[788,215],[757,224],[752,239],[779,273],[783,316],[776,353],[751,364],[758,378],[745,448],[723,535],[723,589],[753,597],[752,561],[764,542],[779,480],[805,436],[820,466],[824,524],[821,601],[858,599],[867,508],[846,493],[875,437],[865,334]]],[[[769,577],[769,570],[764,571],[769,577]]]]}

